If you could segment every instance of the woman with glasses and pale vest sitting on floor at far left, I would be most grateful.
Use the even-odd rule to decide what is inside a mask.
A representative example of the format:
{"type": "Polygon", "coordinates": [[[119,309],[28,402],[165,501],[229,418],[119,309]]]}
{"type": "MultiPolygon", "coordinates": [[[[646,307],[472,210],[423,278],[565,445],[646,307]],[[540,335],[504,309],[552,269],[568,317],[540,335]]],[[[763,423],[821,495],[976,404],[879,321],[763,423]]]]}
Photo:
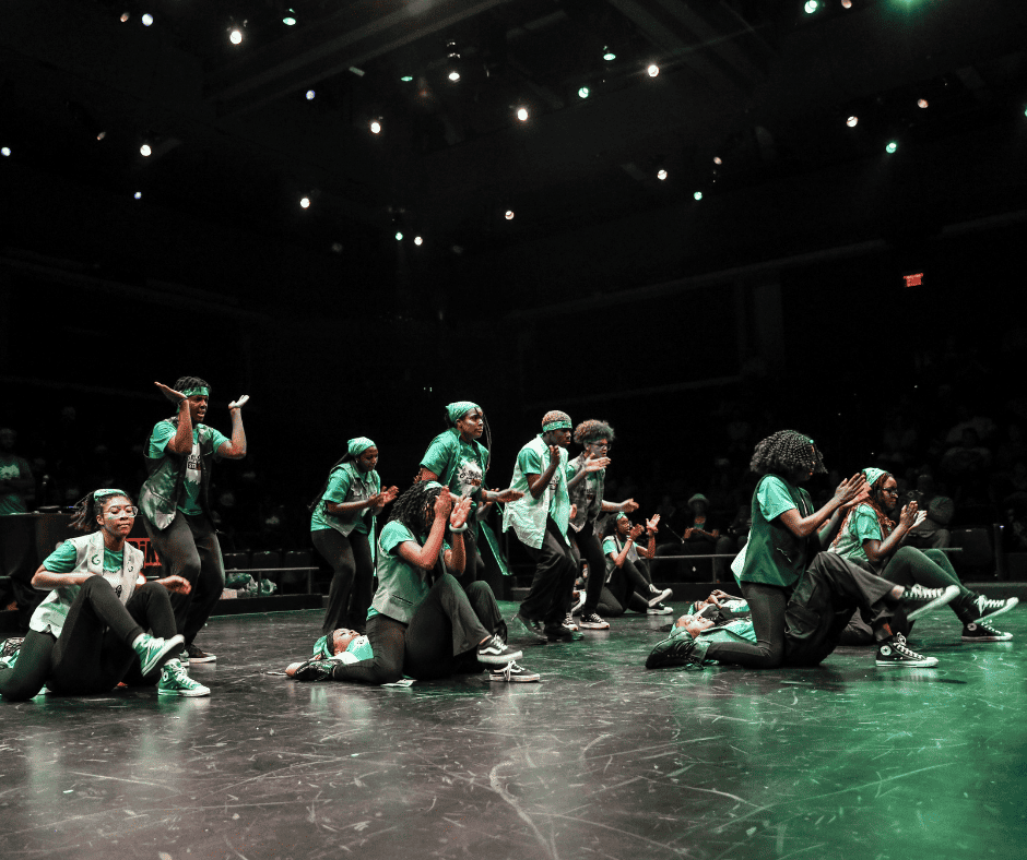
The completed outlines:
{"type": "Polygon", "coordinates": [[[188,594],[189,583],[173,575],[137,587],[143,553],[125,540],[137,514],[128,493],[96,490],[75,511],[72,524],[90,534],[66,540],[33,576],[33,587],[49,594],[21,647],[3,648],[0,695],[23,702],[44,684],[64,695],[106,693],[127,677],[130,685],[152,684],[157,669],[160,695],[210,695],[176,656],[182,637],[168,592],[188,594]]]}

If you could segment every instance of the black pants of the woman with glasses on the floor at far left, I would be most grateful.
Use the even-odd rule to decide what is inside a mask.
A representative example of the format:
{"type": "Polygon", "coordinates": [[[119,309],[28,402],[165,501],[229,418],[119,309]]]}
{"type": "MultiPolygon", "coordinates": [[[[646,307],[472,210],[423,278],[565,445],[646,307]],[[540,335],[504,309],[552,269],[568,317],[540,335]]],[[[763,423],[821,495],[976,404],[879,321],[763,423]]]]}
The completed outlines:
{"type": "Polygon", "coordinates": [[[140,586],[122,606],[110,583],[93,576],[81,586],[58,638],[28,631],[14,668],[0,668],[0,695],[24,702],[44,683],[66,695],[105,693],[130,670],[135,682],[153,683],[156,671],[141,678],[131,647],[143,629],[164,638],[175,635],[175,616],[164,586],[140,586]]]}

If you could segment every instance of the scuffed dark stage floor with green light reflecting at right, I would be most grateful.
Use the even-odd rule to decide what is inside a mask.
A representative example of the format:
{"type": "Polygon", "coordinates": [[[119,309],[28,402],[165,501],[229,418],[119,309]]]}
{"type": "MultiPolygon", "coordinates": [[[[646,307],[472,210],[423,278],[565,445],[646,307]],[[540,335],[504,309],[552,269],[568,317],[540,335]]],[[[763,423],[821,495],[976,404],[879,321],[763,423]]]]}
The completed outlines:
{"type": "Polygon", "coordinates": [[[1025,856],[1023,608],[1012,643],[918,622],[920,670],[647,671],[671,618],[526,647],[539,684],[410,689],[271,673],[319,611],[215,618],[210,698],[0,703],[0,857],[1025,856]]]}

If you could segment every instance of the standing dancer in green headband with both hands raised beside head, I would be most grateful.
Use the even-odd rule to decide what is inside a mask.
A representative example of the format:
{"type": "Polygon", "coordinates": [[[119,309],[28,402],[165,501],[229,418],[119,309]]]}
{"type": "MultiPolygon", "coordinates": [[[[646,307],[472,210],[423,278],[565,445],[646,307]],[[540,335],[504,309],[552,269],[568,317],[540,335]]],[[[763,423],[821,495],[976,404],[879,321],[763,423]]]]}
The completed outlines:
{"type": "Polygon", "coordinates": [[[211,467],[217,459],[243,459],[244,395],[228,404],[232,438],[203,423],[211,387],[198,377],[182,377],[174,389],[153,383],[178,410],[157,421],[146,447],[146,478],[139,494],[146,534],[166,576],[181,576],[191,589],[172,598],[175,623],[186,641],[182,659],[211,662],[217,658],[193,640],[206,623],[225,587],[225,563],[211,521],[211,467]]]}

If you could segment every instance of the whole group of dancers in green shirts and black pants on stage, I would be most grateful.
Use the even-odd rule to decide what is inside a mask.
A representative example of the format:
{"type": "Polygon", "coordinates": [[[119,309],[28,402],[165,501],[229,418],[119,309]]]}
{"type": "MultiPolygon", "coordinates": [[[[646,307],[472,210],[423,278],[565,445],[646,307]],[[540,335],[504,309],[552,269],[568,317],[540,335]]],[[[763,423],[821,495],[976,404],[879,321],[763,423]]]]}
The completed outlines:
{"type": "MultiPolygon", "coordinates": [[[[229,404],[229,438],[203,423],[205,381],[155,384],[177,411],[150,435],[140,506],[115,488],[79,502],[73,525],[84,534],[44,560],[33,585],[49,594],[25,637],[0,648],[4,700],[31,698],[44,685],[84,695],[119,683],[155,684],[160,695],[210,695],[187,671],[190,662],[216,659],[194,642],[224,587],[208,492],[215,458],[246,455],[248,398],[229,404]],[[138,515],[163,568],[153,582],[127,541],[138,515]]],[[[633,524],[634,500],[603,498],[610,425],[575,427],[566,413],[546,413],[541,433],[518,453],[510,486],[492,490],[491,453],[479,441],[483,434],[489,441],[482,408],[452,403],[445,417],[446,429],[402,493],[381,488],[378,447],[366,437],[351,439],[331,467],[310,504],[311,542],[333,571],[322,635],[307,659],[287,667],[288,676],[393,684],[484,669],[497,682],[538,681],[518,662],[523,652],[509,644],[510,625],[480,578],[482,542],[508,570],[485,522],[493,505],[503,505],[503,530],[512,531],[535,564],[528,596],[510,619],[521,636],[572,642],[582,629],[610,628],[600,609],[607,616],[672,611],[664,604],[672,592],[652,583],[644,562],[654,554],[659,516],[633,524]],[[571,440],[582,446],[574,459],[571,440]],[[377,517],[389,504],[379,530],[377,517]],[[636,546],[642,534],[648,545],[636,546]]],[[[1016,598],[973,593],[943,552],[902,546],[920,514],[911,503],[892,518],[897,482],[888,473],[864,469],[814,511],[799,486],[824,471],[812,439],[775,433],[756,446],[752,468],[762,476],[753,526],[732,564],[741,597],[715,592],[689,607],[649,655],[648,668],[816,665],[842,643],[875,645],[877,666],[931,667],[937,660],[912,650],[906,636],[916,618],[945,605],[961,622],[964,642],[1012,638],[989,622],[1016,598]]]]}

